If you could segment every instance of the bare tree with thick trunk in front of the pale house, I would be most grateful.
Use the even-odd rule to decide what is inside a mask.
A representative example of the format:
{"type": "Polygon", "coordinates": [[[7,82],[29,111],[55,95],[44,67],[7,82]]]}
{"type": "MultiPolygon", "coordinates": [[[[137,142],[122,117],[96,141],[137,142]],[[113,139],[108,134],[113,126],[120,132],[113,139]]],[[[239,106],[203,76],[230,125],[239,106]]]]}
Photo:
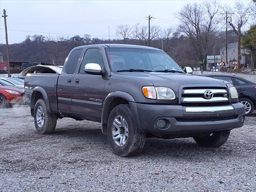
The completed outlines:
{"type": "Polygon", "coordinates": [[[232,11],[232,13],[228,14],[228,24],[231,26],[238,38],[237,64],[238,68],[241,68],[241,28],[245,26],[250,19],[250,6],[236,1],[233,8],[226,7],[226,9],[232,11]]]}

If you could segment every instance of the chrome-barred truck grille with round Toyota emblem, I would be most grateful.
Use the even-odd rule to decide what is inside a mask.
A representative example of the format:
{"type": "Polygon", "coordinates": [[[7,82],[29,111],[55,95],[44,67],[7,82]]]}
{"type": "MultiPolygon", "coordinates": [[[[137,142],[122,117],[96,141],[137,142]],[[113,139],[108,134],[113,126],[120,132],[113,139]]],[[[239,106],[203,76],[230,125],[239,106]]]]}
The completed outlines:
{"type": "Polygon", "coordinates": [[[228,91],[221,88],[183,88],[181,103],[210,103],[210,102],[228,102],[228,91]]]}

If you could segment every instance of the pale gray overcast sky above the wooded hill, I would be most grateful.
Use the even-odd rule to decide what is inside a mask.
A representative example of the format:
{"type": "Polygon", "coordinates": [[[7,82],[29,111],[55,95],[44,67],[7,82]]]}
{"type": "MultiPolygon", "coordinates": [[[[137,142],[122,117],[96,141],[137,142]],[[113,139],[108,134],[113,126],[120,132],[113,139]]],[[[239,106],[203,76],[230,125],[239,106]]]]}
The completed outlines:
{"type": "MultiPolygon", "coordinates": [[[[134,25],[139,22],[147,25],[146,16],[154,18],[152,25],[162,28],[175,27],[174,18],[187,2],[196,0],[170,1],[13,1],[1,0],[0,7],[7,12],[9,44],[22,42],[26,35],[42,34],[44,36],[72,37],[76,34],[90,34],[93,37],[108,39],[116,36],[116,26],[134,25]],[[15,30],[34,31],[21,32],[15,30]],[[44,34],[58,33],[58,34],[44,34]],[[62,35],[63,34],[63,35],[62,35]],[[64,35],[70,34],[70,35],[64,35]]],[[[199,1],[197,1],[199,2],[199,1]]],[[[234,4],[233,0],[221,0],[222,4],[234,4]]],[[[246,1],[244,1],[246,2],[246,1]]],[[[250,2],[250,1],[247,1],[250,2]]],[[[2,13],[1,13],[2,15],[2,13]]],[[[5,44],[4,18],[0,19],[0,43],[5,44]]]]}

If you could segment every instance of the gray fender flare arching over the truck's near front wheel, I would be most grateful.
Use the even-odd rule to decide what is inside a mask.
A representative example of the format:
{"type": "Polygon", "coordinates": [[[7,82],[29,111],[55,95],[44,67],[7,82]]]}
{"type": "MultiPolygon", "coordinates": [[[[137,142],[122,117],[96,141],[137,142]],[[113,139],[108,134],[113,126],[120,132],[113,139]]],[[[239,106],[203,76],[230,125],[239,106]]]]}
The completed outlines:
{"type": "Polygon", "coordinates": [[[102,106],[102,115],[101,115],[101,123],[102,123],[102,133],[107,134],[107,122],[108,122],[108,116],[112,109],[115,106],[118,106],[120,104],[128,104],[129,102],[135,102],[134,98],[122,91],[116,91],[111,92],[108,94],[106,99],[104,100],[103,106],[102,106]]]}

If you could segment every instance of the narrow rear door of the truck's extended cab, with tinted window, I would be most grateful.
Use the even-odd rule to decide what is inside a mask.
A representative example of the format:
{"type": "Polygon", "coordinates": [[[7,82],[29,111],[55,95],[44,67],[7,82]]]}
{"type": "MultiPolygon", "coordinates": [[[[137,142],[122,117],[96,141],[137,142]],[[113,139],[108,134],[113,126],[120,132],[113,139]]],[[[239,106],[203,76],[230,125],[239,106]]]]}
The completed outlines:
{"type": "Polygon", "coordinates": [[[76,67],[80,62],[80,56],[83,49],[76,49],[68,55],[65,68],[58,78],[57,96],[58,96],[58,110],[63,114],[70,114],[73,97],[72,84],[74,81],[74,73],[76,67]]]}

